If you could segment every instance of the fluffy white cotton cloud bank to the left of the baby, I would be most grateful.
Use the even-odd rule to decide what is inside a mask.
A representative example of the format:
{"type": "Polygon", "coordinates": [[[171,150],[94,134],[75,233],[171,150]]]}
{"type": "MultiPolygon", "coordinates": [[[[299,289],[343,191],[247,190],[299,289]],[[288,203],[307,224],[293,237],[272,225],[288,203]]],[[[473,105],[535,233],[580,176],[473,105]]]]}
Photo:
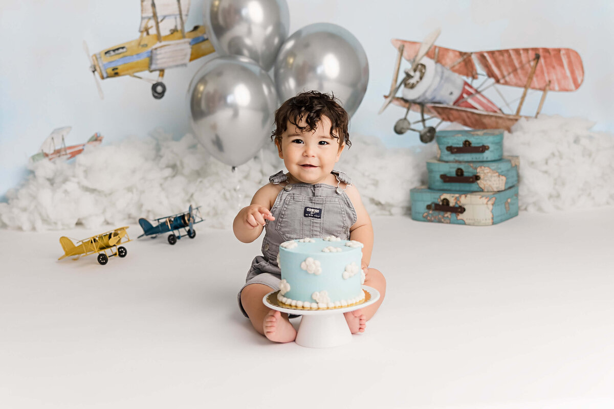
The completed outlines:
{"type": "Polygon", "coordinates": [[[147,137],[103,143],[71,161],[39,161],[0,203],[0,226],[26,231],[135,224],[200,205],[201,225],[229,229],[269,175],[283,168],[274,147],[232,172],[194,137],[147,137]]]}

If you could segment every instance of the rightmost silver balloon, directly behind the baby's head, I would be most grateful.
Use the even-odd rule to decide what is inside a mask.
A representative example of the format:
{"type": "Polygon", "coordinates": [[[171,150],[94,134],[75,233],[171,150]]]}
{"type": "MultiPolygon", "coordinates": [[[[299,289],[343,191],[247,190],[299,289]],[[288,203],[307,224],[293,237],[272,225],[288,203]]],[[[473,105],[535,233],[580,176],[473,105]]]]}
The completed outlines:
{"type": "Polygon", "coordinates": [[[351,117],[367,91],[367,54],[351,32],[331,23],[305,26],[288,37],[275,61],[281,101],[301,91],[334,93],[351,117]]]}

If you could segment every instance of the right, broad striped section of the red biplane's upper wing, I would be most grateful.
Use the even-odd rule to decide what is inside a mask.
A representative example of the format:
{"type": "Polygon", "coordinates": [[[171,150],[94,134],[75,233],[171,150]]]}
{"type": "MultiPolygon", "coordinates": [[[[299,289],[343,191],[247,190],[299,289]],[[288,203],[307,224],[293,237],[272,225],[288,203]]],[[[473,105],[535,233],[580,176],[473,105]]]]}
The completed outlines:
{"type": "Polygon", "coordinates": [[[524,88],[532,64],[540,55],[529,88],[550,91],[573,91],[584,80],[582,59],[570,48],[513,48],[510,50],[480,51],[473,53],[486,75],[502,85],[524,88]]]}

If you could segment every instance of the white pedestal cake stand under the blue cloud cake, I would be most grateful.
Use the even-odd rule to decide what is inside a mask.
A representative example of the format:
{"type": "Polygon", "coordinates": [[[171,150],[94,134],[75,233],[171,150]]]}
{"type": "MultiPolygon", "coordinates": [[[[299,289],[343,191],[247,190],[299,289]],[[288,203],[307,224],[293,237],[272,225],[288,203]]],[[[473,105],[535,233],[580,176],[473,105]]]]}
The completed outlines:
{"type": "Polygon", "coordinates": [[[273,291],[263,297],[262,302],[272,310],[282,313],[302,315],[298,326],[298,345],[308,348],[330,348],[349,343],[352,333],[349,331],[344,313],[359,310],[379,300],[379,291],[375,288],[362,286],[365,291],[365,302],[351,307],[333,308],[331,310],[303,310],[300,308],[282,307],[277,299],[279,291],[273,291]]]}

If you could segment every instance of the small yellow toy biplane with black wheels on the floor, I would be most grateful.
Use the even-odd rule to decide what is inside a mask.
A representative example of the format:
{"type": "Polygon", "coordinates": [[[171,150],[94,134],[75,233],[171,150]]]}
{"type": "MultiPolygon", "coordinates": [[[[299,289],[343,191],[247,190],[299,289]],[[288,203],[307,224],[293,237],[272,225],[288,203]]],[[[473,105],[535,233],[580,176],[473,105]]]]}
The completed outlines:
{"type": "Polygon", "coordinates": [[[58,260],[69,256],[76,256],[73,260],[77,260],[81,256],[98,253],[98,262],[104,266],[109,261],[109,257],[120,256],[123,258],[128,254],[128,251],[125,247],[118,247],[118,245],[130,242],[130,237],[128,237],[128,232],[126,232],[127,228],[128,226],[118,227],[115,230],[79,240],[76,244],[72,243],[72,240],[68,237],[60,237],[60,244],[64,249],[64,255],[58,260]],[[111,250],[111,254],[108,256],[107,250],[111,250]]]}

